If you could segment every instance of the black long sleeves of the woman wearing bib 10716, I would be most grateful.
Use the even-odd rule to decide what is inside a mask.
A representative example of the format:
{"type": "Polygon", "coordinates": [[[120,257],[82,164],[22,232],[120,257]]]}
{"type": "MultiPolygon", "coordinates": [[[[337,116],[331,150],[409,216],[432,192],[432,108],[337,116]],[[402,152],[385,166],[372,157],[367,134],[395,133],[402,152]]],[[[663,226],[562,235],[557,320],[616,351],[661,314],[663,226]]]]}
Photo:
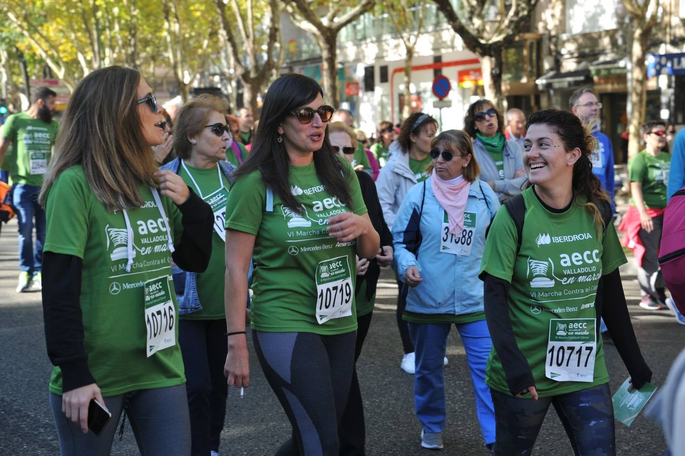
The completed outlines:
{"type": "MultiPolygon", "coordinates": [[[[212,253],[212,208],[190,191],[179,205],[183,234],[172,254],[185,270],[206,270],[212,253]]],[[[84,350],[80,305],[83,260],[75,255],[46,251],[42,261],[42,305],[47,354],[62,370],[62,392],[96,383],[84,350]]]]}

